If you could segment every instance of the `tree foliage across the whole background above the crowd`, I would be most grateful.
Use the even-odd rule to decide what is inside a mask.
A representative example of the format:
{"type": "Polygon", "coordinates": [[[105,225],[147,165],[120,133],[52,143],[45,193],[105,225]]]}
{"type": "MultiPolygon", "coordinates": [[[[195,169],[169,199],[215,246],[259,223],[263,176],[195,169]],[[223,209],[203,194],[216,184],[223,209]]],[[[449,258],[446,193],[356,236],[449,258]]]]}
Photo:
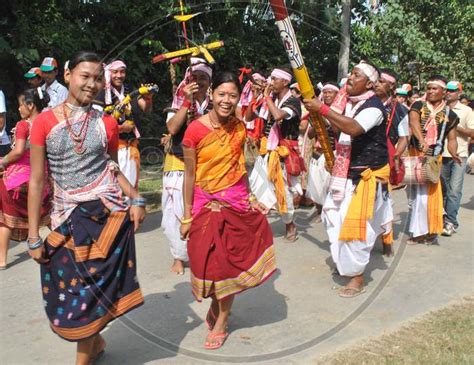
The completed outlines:
{"type": "MultiPolygon", "coordinates": [[[[195,43],[223,40],[215,51],[217,68],[251,66],[268,73],[287,65],[267,1],[187,0],[186,12],[200,12],[188,23],[195,43]]],[[[313,82],[336,80],[340,45],[340,0],[287,0],[301,51],[313,82]]],[[[43,57],[62,64],[78,50],[95,50],[104,61],[121,58],[128,64],[132,85],[155,82],[155,112],[144,118],[145,136],[164,131],[163,109],[171,100],[166,62],[154,55],[184,48],[177,0],[17,0],[0,14],[0,86],[9,97],[9,120],[18,120],[15,95],[24,87],[23,74],[43,57]]],[[[468,0],[387,0],[371,13],[364,0],[352,0],[351,62],[370,58],[390,65],[406,79],[439,69],[467,81],[472,75],[473,6],[468,0]]],[[[186,67],[179,66],[179,75],[186,67]]],[[[60,76],[61,79],[61,76],[60,76]]],[[[469,87],[472,87],[469,84],[469,87]]],[[[12,122],[10,122],[10,125],[12,122]]]]}

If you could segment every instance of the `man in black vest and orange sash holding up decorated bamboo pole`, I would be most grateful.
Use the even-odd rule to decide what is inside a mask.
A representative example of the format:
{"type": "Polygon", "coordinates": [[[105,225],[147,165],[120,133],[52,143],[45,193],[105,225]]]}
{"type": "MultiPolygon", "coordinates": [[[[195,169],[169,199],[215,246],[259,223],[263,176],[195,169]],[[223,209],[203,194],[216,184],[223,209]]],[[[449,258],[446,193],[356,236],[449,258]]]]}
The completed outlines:
{"type": "Polygon", "coordinates": [[[391,227],[393,212],[386,198],[388,164],[386,112],[374,87],[379,71],[368,62],[354,67],[346,84],[347,104],[339,114],[318,99],[306,108],[341,131],[322,220],[331,255],[342,276],[351,278],[339,291],[344,298],[364,292],[364,271],[378,236],[391,227]]]}

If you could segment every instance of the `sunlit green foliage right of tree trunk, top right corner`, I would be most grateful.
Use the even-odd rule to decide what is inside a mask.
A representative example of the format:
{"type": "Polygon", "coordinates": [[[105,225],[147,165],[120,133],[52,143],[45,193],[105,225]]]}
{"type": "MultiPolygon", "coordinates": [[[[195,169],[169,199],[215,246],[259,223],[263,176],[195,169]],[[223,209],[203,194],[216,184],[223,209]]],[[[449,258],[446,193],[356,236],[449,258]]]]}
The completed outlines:
{"type": "Polygon", "coordinates": [[[473,24],[469,0],[388,0],[354,27],[354,52],[396,69],[415,85],[441,73],[472,90],[473,24]]]}

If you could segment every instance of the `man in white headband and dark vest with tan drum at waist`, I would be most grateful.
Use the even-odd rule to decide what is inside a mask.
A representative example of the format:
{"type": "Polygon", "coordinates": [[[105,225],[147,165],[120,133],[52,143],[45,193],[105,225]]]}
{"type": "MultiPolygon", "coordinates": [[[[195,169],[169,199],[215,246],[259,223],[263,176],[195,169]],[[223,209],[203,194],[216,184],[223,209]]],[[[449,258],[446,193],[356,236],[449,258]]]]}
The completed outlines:
{"type": "MultiPolygon", "coordinates": [[[[427,156],[441,159],[447,141],[452,159],[461,164],[457,155],[456,126],[458,116],[444,101],[446,79],[442,75],[431,76],[426,87],[426,101],[413,103],[409,113],[412,131],[410,156],[427,156]]],[[[443,193],[441,182],[419,183],[407,188],[409,206],[409,227],[411,238],[408,244],[438,243],[443,232],[443,193]]]]}

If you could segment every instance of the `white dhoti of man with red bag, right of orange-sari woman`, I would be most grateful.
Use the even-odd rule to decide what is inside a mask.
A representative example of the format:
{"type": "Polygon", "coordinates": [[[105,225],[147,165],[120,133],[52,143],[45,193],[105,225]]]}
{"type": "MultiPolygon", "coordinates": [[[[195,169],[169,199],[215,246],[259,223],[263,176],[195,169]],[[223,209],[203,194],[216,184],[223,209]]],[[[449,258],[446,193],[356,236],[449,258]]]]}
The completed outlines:
{"type": "MultiPolygon", "coordinates": [[[[298,194],[298,186],[301,191],[302,188],[301,183],[298,182],[297,176],[290,176],[291,188],[288,186],[284,163],[282,163],[282,172],[283,180],[285,182],[285,197],[288,212],[283,214],[281,217],[285,224],[289,224],[293,222],[293,216],[295,214],[293,198],[296,194],[298,194]]],[[[265,157],[259,156],[255,160],[255,165],[253,167],[252,173],[249,176],[249,184],[252,193],[260,203],[265,205],[268,209],[276,207],[277,198],[275,193],[275,185],[270,180],[268,180],[268,154],[265,155],[265,157]]]]}

